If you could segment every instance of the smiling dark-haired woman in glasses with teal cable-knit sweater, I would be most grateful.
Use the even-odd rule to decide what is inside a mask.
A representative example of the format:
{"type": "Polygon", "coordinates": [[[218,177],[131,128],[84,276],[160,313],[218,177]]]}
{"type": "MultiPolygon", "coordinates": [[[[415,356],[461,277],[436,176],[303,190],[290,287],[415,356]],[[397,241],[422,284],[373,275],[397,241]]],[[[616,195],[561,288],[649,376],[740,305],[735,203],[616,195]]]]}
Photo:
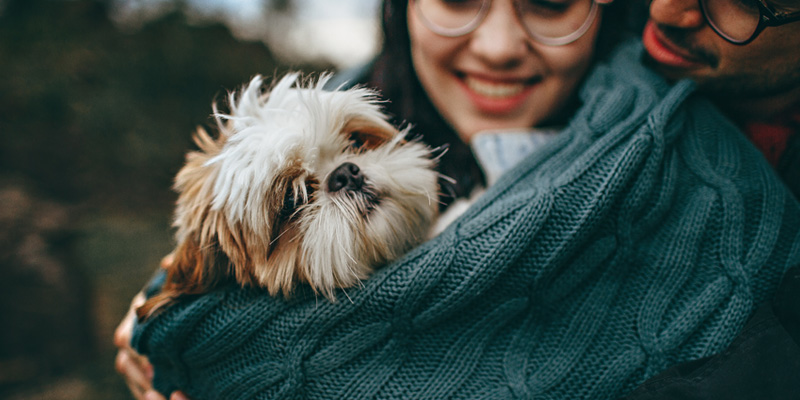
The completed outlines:
{"type": "MultiPolygon", "coordinates": [[[[431,6],[453,3],[387,2],[387,37],[391,21],[407,21],[406,71],[413,66],[420,82],[392,74],[403,50],[392,58],[387,45],[371,79],[394,101],[398,119],[426,133],[450,126],[462,139],[450,143],[486,129],[565,123],[594,57],[596,23],[583,31],[588,17],[576,18],[557,25],[570,32],[553,33],[540,30],[541,21],[529,23],[546,10],[528,14],[519,2],[495,0],[464,19],[440,19],[446,10],[431,6]],[[490,45],[496,41],[503,45],[490,45]],[[417,103],[426,97],[433,107],[417,103]],[[417,111],[426,109],[442,117],[417,111]]],[[[160,390],[222,390],[213,383],[223,382],[214,375],[222,364],[201,362],[199,375],[183,368],[204,354],[240,362],[225,372],[233,384],[224,393],[234,397],[613,398],[669,365],[724,348],[753,304],[774,290],[784,260],[798,261],[787,249],[800,237],[800,210],[786,203],[783,222],[739,218],[737,204],[783,199],[779,183],[760,178],[768,166],[740,141],[722,139],[728,125],[691,97],[691,84],[670,88],[639,65],[635,48],[623,50],[591,73],[581,107],[554,142],[451,229],[366,281],[350,303],[286,305],[228,291],[167,320],[220,337],[214,321],[181,316],[225,315],[223,330],[247,332],[244,339],[222,336],[198,347],[197,337],[173,335],[170,324],[137,328],[137,348],[164,368],[164,377],[156,375],[160,390]],[[732,240],[752,236],[769,241],[742,251],[732,240]],[[263,329],[240,318],[245,305],[259,310],[263,329]]],[[[451,153],[470,159],[466,146],[451,153]]],[[[456,195],[480,177],[476,168],[467,175],[473,179],[455,175],[456,195]]],[[[139,387],[149,387],[146,376],[139,387]]]]}

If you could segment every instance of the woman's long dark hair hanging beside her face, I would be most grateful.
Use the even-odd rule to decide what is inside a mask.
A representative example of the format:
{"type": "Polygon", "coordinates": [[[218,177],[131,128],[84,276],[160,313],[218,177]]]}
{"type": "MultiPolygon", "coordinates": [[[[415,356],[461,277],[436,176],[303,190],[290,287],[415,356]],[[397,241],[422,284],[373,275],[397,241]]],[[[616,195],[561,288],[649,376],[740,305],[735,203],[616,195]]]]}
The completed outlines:
{"type": "MultiPolygon", "coordinates": [[[[604,6],[596,57],[607,55],[623,34],[624,7],[620,4],[623,1],[615,0],[604,6]]],[[[442,118],[417,79],[411,62],[407,10],[408,0],[384,0],[383,49],[366,83],[380,90],[384,98],[389,100],[386,111],[394,118],[393,122],[412,124],[413,132],[423,142],[434,148],[446,149],[441,156],[439,172],[454,182],[440,179],[440,200],[442,208],[445,208],[454,199],[469,196],[476,185],[485,184],[485,178],[469,145],[442,118]]],[[[570,108],[567,115],[572,114],[574,107],[577,104],[570,108]]]]}

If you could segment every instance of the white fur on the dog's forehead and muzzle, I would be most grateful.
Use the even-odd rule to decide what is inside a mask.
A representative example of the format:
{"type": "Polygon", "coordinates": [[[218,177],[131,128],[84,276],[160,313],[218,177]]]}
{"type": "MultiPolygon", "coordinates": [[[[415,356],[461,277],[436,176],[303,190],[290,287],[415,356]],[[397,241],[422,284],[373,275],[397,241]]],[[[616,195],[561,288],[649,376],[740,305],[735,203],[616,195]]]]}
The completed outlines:
{"type": "MultiPolygon", "coordinates": [[[[308,282],[332,297],[334,288],[357,284],[376,264],[426,238],[436,214],[438,175],[429,149],[405,142],[405,132],[374,149],[351,148],[341,134],[349,121],[386,126],[386,117],[373,92],[325,91],[327,80],[297,87],[298,74],[289,74],[265,94],[262,79],[254,78],[238,96],[231,95],[229,114],[216,114],[227,141],[206,166],[216,170],[211,208],[231,226],[256,233],[261,243],[248,246],[279,239],[272,237],[274,216],[265,210],[285,195],[275,193],[276,182],[290,181],[293,196],[307,202],[295,210],[297,234],[288,239],[301,241],[297,256],[308,282]],[[328,176],[344,162],[361,169],[365,185],[377,193],[376,208],[364,212],[357,195],[327,190],[328,176]],[[311,182],[317,189],[308,194],[311,182]]],[[[256,264],[255,275],[266,279],[266,271],[259,271],[266,266],[256,264]]]]}

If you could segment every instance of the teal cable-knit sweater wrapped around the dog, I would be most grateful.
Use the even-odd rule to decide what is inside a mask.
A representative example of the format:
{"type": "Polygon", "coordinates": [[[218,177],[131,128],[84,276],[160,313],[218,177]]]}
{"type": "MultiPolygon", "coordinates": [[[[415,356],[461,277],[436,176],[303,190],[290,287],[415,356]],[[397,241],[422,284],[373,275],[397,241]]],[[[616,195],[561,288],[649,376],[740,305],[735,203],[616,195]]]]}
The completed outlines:
{"type": "Polygon", "coordinates": [[[135,328],[193,399],[613,399],[717,353],[800,264],[800,205],[624,46],[566,130],[331,303],[226,287],[135,328]]]}

